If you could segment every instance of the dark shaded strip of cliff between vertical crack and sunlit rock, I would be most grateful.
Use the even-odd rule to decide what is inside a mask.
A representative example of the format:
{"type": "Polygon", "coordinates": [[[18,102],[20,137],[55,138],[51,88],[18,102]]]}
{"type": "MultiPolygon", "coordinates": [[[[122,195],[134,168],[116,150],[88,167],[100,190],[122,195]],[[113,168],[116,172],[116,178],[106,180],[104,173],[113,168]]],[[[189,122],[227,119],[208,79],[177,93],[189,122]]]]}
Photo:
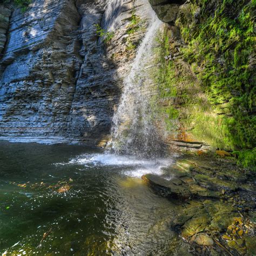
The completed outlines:
{"type": "Polygon", "coordinates": [[[110,138],[114,108],[121,95],[120,80],[116,64],[107,57],[106,48],[111,41],[104,42],[97,33],[96,24],[102,24],[103,16],[98,12],[86,13],[81,7],[83,2],[76,2],[81,16],[78,54],[83,61],[77,74],[66,134],[103,146],[110,138]]]}

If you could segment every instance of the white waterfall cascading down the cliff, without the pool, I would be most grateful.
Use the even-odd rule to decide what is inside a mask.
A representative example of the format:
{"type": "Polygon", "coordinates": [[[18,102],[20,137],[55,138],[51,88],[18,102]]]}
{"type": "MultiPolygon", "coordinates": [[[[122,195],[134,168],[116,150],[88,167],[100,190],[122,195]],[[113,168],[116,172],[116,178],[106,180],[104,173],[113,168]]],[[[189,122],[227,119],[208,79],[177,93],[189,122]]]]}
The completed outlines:
{"type": "Polygon", "coordinates": [[[148,72],[161,24],[152,10],[149,27],[138,47],[131,71],[124,79],[124,91],[113,116],[110,144],[115,153],[159,157],[164,151],[150,102],[153,92],[148,72]]]}

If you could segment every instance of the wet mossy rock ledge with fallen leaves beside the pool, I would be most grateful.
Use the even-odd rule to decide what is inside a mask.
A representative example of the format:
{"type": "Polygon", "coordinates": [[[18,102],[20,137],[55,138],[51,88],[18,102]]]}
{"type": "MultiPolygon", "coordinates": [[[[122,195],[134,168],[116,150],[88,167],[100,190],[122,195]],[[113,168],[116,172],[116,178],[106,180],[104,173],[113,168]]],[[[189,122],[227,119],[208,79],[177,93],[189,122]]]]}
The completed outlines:
{"type": "Polygon", "coordinates": [[[254,172],[232,158],[190,154],[165,168],[163,176],[142,179],[177,202],[170,228],[191,244],[191,254],[255,255],[254,172]]]}

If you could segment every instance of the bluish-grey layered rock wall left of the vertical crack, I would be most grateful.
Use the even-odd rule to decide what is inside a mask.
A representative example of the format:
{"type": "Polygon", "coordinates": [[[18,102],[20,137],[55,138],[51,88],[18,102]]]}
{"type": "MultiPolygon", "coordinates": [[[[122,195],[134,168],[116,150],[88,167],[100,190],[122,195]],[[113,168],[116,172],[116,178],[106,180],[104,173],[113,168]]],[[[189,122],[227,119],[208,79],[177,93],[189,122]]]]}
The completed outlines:
{"type": "Polygon", "coordinates": [[[35,1],[10,19],[1,60],[0,132],[29,136],[62,133],[80,67],[73,1],[35,1]]]}

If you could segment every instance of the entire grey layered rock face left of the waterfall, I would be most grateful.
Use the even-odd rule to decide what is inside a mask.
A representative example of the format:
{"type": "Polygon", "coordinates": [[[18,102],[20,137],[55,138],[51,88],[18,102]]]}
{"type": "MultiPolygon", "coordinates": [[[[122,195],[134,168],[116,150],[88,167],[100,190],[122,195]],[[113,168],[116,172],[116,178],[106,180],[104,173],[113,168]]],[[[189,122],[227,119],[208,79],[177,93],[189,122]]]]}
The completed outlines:
{"type": "MultiPolygon", "coordinates": [[[[2,16],[0,136],[62,136],[101,140],[110,133],[114,106],[130,69],[127,28],[133,14],[151,8],[140,1],[35,0],[25,14],[2,16]],[[113,32],[99,37],[96,24],[113,32]]],[[[1,9],[2,10],[2,9],[1,9]]],[[[4,10],[4,9],[3,9],[4,10]]],[[[145,31],[129,42],[138,45],[145,31]]]]}

